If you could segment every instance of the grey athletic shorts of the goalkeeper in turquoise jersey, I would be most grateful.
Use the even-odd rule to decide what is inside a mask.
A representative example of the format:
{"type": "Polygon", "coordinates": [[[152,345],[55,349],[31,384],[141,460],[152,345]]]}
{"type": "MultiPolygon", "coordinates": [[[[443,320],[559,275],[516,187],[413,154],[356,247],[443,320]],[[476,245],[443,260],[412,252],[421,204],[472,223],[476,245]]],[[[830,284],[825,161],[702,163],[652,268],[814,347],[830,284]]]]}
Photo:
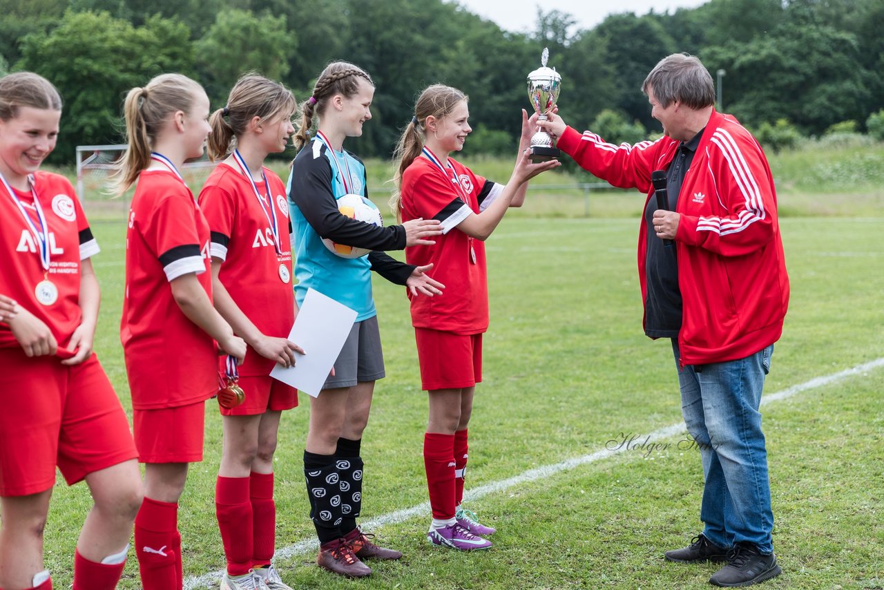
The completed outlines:
{"type": "Polygon", "coordinates": [[[353,387],[362,381],[384,379],[384,352],[377,316],[356,322],[334,362],[334,377],[325,380],[323,389],[353,387]]]}

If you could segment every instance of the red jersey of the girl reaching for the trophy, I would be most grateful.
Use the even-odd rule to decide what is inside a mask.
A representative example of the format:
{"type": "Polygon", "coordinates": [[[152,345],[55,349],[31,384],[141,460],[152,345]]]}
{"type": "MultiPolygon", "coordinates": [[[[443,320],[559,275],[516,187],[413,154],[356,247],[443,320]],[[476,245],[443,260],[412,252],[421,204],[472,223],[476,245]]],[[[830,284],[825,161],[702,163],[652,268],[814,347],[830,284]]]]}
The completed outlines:
{"type": "Polygon", "coordinates": [[[446,286],[442,295],[435,297],[408,294],[411,322],[415,327],[432,330],[482,333],[488,329],[485,245],[456,226],[470,212],[483,211],[502,187],[452,158],[448,163],[443,172],[426,157],[417,157],[402,175],[402,220],[438,219],[445,232],[433,238],[433,246],[405,249],[408,264],[433,263],[433,279],[446,286]]]}

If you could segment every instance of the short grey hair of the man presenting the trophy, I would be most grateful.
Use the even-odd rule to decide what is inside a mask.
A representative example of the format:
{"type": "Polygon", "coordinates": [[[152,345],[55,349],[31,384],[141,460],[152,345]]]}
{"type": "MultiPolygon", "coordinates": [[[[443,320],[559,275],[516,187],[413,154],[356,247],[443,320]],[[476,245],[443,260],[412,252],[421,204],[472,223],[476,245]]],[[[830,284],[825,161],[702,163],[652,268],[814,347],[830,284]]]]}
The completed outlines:
{"type": "Polygon", "coordinates": [[[704,109],[715,103],[713,77],[697,57],[673,53],[659,60],[642,83],[642,92],[654,91],[664,109],[678,101],[691,109],[704,109]]]}

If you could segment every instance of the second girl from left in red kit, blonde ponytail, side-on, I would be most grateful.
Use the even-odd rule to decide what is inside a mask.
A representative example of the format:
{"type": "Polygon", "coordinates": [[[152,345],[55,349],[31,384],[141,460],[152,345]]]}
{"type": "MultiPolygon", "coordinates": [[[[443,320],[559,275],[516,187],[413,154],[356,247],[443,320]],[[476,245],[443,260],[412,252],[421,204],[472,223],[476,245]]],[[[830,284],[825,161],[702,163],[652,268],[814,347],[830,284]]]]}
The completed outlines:
{"type": "Polygon", "coordinates": [[[210,230],[179,168],[210,132],[202,87],[168,73],[126,96],[129,146],[117,189],[138,181],[126,234],[120,339],[132,391],[145,498],[135,555],[145,590],[181,588],[178,500],[202,461],[204,402],[217,392],[217,345],[242,361],[246,343],[211,301],[210,230]]]}

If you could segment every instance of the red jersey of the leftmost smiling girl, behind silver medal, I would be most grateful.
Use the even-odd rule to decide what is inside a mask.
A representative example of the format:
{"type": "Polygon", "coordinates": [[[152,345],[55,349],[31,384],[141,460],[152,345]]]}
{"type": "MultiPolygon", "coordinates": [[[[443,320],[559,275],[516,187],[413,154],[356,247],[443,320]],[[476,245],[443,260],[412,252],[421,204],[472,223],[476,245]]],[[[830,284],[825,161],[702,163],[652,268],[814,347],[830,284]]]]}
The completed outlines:
{"type": "MultiPolygon", "coordinates": [[[[31,192],[13,190],[34,227],[41,231],[31,192]]],[[[34,191],[49,226],[49,272],[42,267],[40,242],[11,195],[0,186],[0,243],[6,252],[0,259],[0,293],[40,318],[50,327],[58,346],[64,348],[80,326],[80,260],[95,255],[98,244],[92,237],[80,201],[64,176],[36,172],[34,191]],[[58,289],[57,300],[50,305],[39,303],[34,293],[34,287],[44,278],[58,289]]],[[[12,336],[9,326],[0,323],[0,347],[17,346],[19,341],[12,336]]]]}

